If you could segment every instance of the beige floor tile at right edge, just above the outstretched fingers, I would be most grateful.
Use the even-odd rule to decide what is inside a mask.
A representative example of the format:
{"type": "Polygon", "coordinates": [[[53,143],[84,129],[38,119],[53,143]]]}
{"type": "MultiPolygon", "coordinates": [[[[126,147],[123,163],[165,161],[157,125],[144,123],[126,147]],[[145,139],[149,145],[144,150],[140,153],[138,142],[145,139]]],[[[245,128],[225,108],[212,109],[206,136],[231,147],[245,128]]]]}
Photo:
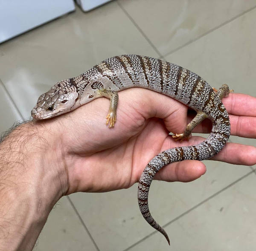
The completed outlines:
{"type": "MultiPolygon", "coordinates": [[[[256,97],[256,9],[166,57],[198,73],[212,87],[228,84],[256,97]]],[[[256,139],[232,138],[256,146],[256,139]]]]}

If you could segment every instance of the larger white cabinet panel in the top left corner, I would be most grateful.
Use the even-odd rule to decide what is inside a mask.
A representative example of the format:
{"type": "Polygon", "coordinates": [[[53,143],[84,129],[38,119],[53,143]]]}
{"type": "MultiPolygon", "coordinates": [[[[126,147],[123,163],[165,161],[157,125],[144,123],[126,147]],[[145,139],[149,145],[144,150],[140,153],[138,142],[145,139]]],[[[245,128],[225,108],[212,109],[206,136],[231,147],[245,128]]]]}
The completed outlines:
{"type": "Polygon", "coordinates": [[[0,43],[74,10],[73,0],[0,0],[0,43]]]}

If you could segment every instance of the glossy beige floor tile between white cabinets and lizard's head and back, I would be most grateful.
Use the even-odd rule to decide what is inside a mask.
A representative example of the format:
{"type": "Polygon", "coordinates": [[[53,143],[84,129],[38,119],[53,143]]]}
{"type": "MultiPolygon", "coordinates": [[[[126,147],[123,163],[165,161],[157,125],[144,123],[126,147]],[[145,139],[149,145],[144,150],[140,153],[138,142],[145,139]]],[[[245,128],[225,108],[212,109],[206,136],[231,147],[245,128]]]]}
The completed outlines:
{"type": "Polygon", "coordinates": [[[157,57],[116,2],[89,13],[76,12],[0,46],[0,76],[24,117],[38,96],[113,55],[157,57]]]}

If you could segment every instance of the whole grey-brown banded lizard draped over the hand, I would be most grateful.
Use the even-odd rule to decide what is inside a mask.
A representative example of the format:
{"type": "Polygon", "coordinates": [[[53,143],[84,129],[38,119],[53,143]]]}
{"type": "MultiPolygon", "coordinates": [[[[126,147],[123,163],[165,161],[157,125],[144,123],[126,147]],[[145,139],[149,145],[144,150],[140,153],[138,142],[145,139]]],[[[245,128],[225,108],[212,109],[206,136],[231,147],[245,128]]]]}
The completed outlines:
{"type": "Polygon", "coordinates": [[[106,59],[81,75],[58,81],[40,95],[31,111],[34,119],[46,119],[70,112],[99,98],[110,98],[107,115],[109,127],[116,123],[118,93],[124,89],[141,87],[175,98],[197,112],[175,140],[186,140],[192,130],[205,118],[212,121],[209,137],[200,144],[175,147],[155,156],[145,167],[138,184],[138,203],[145,220],[166,237],[166,231],[154,220],[148,208],[148,191],[155,174],[164,166],[186,159],[205,160],[215,156],[230,136],[230,120],[221,102],[233,90],[223,84],[218,90],[188,69],[156,58],[140,55],[120,55],[106,59]]]}

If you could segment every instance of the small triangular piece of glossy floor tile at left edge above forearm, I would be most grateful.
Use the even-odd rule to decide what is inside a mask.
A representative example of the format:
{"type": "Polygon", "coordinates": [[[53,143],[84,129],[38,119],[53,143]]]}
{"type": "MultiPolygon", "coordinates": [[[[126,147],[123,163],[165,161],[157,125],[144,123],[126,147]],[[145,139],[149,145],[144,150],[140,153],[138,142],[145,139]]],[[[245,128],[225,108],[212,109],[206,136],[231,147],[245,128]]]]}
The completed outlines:
{"type": "Polygon", "coordinates": [[[14,122],[20,120],[21,117],[6,93],[3,83],[0,80],[0,134],[8,130],[14,122]]]}

